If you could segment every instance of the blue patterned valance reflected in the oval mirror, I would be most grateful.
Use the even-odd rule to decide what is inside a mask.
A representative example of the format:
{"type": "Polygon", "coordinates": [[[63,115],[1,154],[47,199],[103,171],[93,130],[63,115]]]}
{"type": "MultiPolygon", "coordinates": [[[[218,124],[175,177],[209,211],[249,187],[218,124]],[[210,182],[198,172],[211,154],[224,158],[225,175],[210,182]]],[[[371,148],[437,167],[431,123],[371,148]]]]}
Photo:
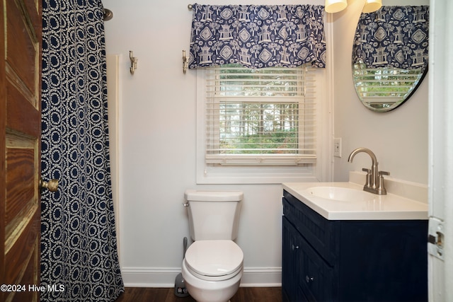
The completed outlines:
{"type": "Polygon", "coordinates": [[[382,6],[362,13],[354,37],[353,62],[370,67],[428,66],[429,6],[382,6]]]}

